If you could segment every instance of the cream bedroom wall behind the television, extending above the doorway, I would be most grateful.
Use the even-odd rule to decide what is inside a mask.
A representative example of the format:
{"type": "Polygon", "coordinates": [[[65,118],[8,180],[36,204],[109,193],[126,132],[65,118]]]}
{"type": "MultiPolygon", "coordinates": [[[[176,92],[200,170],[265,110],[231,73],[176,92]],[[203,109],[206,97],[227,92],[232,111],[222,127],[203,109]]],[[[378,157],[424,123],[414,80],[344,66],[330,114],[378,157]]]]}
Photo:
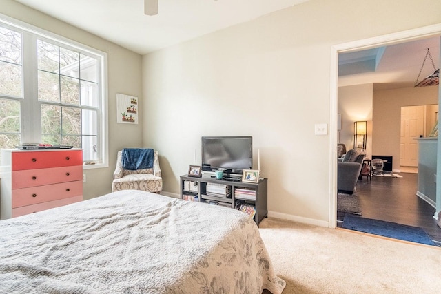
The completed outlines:
{"type": "Polygon", "coordinates": [[[311,0],[143,56],[143,143],[161,154],[165,191],[178,193],[201,136],[251,135],[270,215],[326,225],[329,136],[314,124],[329,124],[331,47],[440,23],[440,11],[438,0],[311,0]]]}

